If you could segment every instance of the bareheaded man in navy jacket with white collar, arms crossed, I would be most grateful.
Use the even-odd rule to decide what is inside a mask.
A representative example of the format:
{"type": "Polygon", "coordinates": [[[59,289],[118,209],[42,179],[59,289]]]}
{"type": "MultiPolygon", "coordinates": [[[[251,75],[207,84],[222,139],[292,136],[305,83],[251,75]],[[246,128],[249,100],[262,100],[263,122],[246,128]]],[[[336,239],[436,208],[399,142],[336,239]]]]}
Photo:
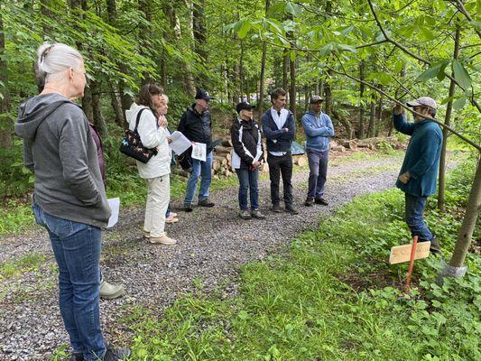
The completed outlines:
{"type": "Polygon", "coordinates": [[[284,108],[286,104],[286,91],[276,88],[271,93],[273,106],[267,110],[263,117],[263,132],[267,139],[267,163],[271,178],[271,200],[273,211],[281,212],[279,207],[279,182],[282,174],[284,188],[285,210],[293,215],[299,212],[293,208],[292,195],[292,154],[291,144],[295,134],[295,120],[291,111],[284,108]]]}

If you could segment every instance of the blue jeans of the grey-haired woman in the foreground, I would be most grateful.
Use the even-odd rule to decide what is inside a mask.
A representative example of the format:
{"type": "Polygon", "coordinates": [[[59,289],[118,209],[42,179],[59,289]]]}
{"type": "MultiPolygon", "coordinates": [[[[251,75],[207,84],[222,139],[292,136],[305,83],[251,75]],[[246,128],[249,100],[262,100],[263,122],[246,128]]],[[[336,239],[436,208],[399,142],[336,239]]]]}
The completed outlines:
{"type": "Polygon", "coordinates": [[[37,224],[47,228],[59,265],[60,313],[74,352],[87,361],[106,353],[100,328],[100,228],[57,218],[33,204],[37,224]]]}

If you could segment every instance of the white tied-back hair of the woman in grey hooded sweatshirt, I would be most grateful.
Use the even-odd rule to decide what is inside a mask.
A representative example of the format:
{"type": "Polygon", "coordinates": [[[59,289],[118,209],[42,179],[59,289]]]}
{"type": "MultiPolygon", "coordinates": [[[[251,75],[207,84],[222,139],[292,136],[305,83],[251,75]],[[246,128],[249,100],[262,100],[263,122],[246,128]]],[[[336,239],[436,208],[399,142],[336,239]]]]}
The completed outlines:
{"type": "Polygon", "coordinates": [[[44,83],[57,78],[66,69],[79,69],[83,63],[82,55],[72,47],[60,42],[44,42],[37,51],[36,71],[39,80],[44,83]]]}

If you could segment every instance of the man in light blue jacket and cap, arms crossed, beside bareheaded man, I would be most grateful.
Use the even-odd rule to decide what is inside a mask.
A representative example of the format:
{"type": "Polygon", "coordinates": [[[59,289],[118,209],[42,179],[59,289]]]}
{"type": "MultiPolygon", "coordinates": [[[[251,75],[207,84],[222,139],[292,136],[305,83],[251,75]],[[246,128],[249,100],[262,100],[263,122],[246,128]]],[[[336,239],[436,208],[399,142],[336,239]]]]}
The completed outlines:
{"type": "Polygon", "coordinates": [[[334,127],[329,116],[321,111],[319,96],[310,98],[310,111],[302,116],[302,127],[306,134],[306,153],[309,161],[308,197],[304,206],[312,203],[328,205],[324,198],[324,186],[328,175],[329,138],[334,136],[334,127]]]}

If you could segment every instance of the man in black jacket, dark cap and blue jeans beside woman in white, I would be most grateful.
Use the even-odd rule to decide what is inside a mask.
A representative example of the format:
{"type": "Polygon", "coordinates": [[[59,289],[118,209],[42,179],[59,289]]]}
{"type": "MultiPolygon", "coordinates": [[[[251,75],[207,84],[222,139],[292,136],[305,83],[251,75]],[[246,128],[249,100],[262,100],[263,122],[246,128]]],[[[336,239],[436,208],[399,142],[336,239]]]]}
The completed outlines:
{"type": "Polygon", "coordinates": [[[184,210],[192,211],[194,195],[197,189],[197,181],[200,180],[199,190],[199,206],[214,207],[214,203],[208,200],[208,190],[212,181],[212,130],[210,113],[208,112],[208,103],[213,99],[204,89],[199,89],[196,94],[196,102],[192,104],[180,118],[177,130],[184,134],[190,142],[205,143],[207,148],[206,162],[192,159],[192,171],[187,181],[187,190],[184,198],[184,210]]]}

